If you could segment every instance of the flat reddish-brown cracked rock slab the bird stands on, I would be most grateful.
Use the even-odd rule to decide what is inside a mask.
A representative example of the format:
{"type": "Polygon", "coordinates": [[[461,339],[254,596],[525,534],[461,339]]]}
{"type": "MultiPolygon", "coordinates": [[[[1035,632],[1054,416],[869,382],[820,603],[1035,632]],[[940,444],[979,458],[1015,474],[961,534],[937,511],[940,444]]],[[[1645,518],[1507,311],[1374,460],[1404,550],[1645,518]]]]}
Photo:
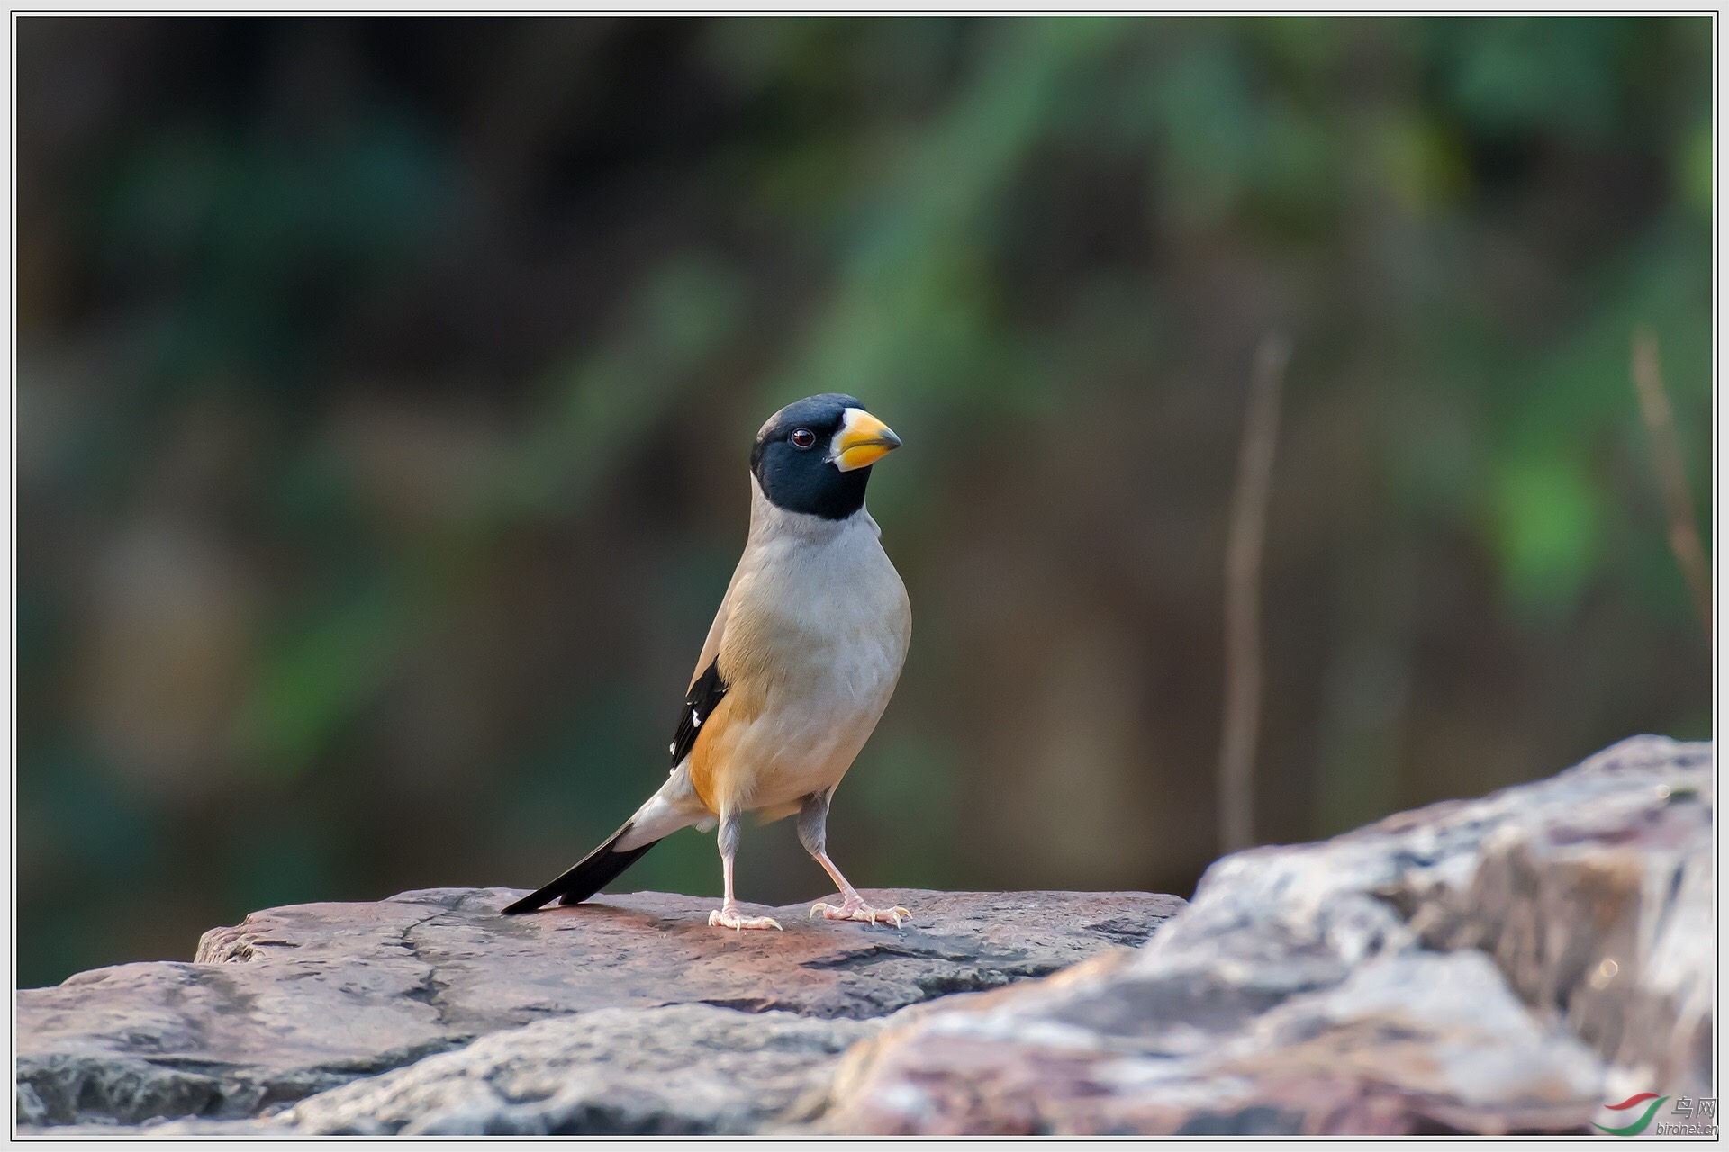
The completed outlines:
{"type": "MultiPolygon", "coordinates": [[[[785,933],[726,933],[707,926],[707,898],[636,893],[498,915],[519,895],[432,889],[271,908],[206,933],[190,964],[123,964],[22,990],[19,1123],[252,1117],[479,1036],[600,1009],[878,1017],[1139,943],[1183,905],[1146,893],[889,889],[870,896],[913,908],[915,924],[807,921],[807,905],[794,905],[766,910],[785,933]]],[[[567,1038],[572,1052],[583,1035],[567,1038]]]]}

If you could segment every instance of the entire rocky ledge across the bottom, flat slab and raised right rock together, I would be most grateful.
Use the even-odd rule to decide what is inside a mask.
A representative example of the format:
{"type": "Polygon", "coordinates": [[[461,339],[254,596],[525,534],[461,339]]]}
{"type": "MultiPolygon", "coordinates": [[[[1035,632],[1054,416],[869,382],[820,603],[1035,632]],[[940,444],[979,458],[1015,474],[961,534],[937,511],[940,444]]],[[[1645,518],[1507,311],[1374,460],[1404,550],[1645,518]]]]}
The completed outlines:
{"type": "Polygon", "coordinates": [[[1712,746],[1219,860],[1145,893],[873,891],[707,926],[636,893],[273,908],[17,995],[33,1131],[1589,1131],[1710,1097],[1712,746]],[[1157,931],[1155,931],[1157,929],[1157,931]],[[57,1128],[54,1128],[57,1126],[57,1128]]]}

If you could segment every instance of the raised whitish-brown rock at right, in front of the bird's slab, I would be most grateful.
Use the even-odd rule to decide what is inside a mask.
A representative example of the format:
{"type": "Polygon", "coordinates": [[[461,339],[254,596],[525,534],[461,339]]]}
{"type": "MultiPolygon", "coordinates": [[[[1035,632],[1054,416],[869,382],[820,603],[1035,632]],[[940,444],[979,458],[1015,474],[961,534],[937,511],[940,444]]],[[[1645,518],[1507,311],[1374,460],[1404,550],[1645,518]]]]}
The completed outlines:
{"type": "Polygon", "coordinates": [[[820,1126],[1587,1131],[1636,1092],[1710,1095],[1712,807],[1710,744],[1637,737],[1228,857],[1139,952],[858,1045],[820,1126]]]}

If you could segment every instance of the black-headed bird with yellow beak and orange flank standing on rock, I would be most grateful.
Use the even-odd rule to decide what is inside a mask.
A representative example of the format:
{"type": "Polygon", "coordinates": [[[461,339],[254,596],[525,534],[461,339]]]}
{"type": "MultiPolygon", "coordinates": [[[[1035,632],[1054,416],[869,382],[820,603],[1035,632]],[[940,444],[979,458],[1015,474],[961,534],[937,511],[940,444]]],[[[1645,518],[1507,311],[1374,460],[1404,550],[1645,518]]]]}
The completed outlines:
{"type": "Polygon", "coordinates": [[[911,642],[906,585],[864,510],[871,466],[901,447],[852,396],[787,404],[750,447],[750,530],[685,689],[671,772],[598,848],[507,915],[581,903],[666,836],[719,829],[721,907],[711,927],[780,929],[733,893],[740,820],[797,813],[799,843],[840,903],[811,917],[901,927],[903,907],[871,907],[828,858],[828,807],[894,694],[911,642]]]}

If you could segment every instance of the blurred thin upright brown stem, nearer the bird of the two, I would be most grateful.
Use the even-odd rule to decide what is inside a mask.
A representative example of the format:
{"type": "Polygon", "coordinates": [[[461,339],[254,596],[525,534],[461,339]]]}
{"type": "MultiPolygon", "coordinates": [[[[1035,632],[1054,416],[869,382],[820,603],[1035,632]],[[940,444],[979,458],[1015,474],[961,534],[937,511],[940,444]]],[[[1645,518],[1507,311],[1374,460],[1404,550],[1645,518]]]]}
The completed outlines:
{"type": "Polygon", "coordinates": [[[1224,734],[1219,743],[1219,846],[1255,843],[1255,734],[1260,725],[1260,546],[1266,539],[1279,392],[1290,340],[1267,333],[1255,352],[1243,451],[1236,461],[1224,556],[1224,734]]]}

